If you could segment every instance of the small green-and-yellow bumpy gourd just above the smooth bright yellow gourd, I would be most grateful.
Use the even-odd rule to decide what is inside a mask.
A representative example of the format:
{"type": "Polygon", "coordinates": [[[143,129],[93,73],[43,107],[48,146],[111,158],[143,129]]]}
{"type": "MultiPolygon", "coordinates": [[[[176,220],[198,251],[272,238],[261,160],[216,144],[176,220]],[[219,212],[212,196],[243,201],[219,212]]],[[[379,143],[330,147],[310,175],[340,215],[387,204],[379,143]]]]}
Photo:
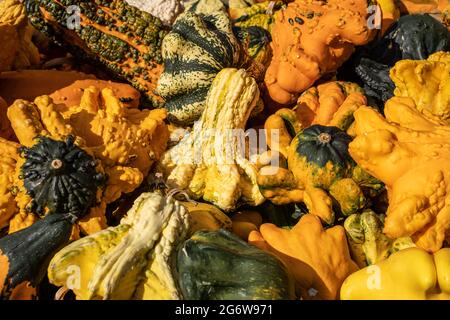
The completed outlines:
{"type": "Polygon", "coordinates": [[[409,237],[389,239],[383,234],[384,215],[372,210],[352,214],[345,219],[344,228],[352,259],[360,268],[386,259],[392,252],[414,247],[409,237]]]}

